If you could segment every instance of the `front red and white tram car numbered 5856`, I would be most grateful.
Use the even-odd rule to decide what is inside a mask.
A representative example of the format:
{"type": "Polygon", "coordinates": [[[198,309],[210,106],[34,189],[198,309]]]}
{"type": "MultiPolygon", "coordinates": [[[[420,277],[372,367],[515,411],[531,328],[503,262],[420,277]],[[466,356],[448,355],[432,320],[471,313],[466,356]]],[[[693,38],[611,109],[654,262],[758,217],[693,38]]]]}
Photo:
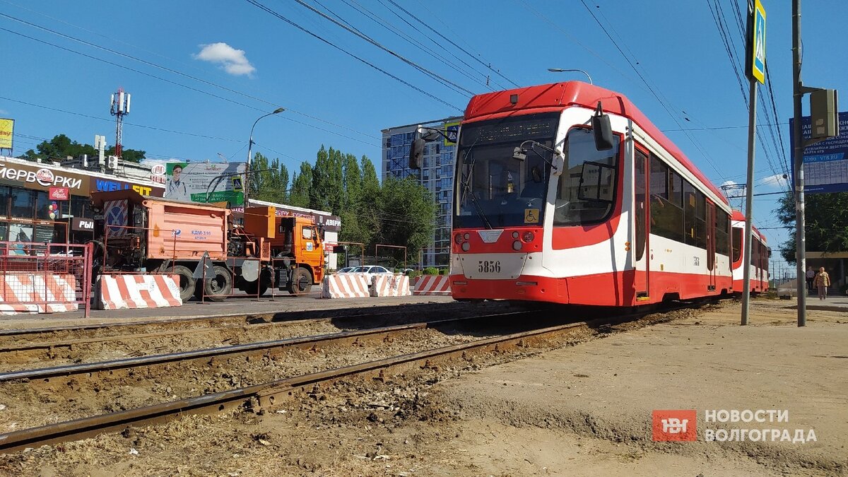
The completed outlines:
{"type": "Polygon", "coordinates": [[[636,306],[732,290],[727,199],[628,98],[580,81],[471,98],[453,211],[458,300],[636,306]]]}

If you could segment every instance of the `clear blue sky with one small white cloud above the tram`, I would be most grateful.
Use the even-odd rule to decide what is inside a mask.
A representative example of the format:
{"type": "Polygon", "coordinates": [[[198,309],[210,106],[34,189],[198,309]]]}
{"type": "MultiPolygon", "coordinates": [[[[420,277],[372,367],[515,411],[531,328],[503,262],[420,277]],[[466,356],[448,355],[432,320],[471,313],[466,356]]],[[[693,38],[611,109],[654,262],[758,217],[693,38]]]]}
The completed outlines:
{"type": "MultiPolygon", "coordinates": [[[[595,84],[631,98],[717,184],[745,182],[748,112],[711,10],[721,7],[732,51],[744,57],[736,1],[394,0],[453,45],[390,0],[303,0],[471,93],[489,91],[487,74],[491,87],[501,88],[510,81],[527,86],[583,79],[579,73],[550,73],[550,67],[586,70],[595,84]]],[[[248,1],[0,0],[0,14],[8,15],[0,16],[0,116],[16,120],[15,154],[59,133],[81,143],[102,134],[114,143],[109,97],[118,87],[132,94],[124,147],[159,159],[218,160],[223,154],[243,160],[256,118],[285,107],[259,122],[254,150],[279,157],[290,169],[301,160],[312,162],[321,144],[377,163],[381,129],[458,115],[468,101],[468,93],[439,84],[295,0],[255,3],[427,94],[248,1]]],[[[790,157],[792,114],[791,2],[763,3],[767,74],[779,124],[776,136],[762,126],[762,137],[778,145],[767,147],[770,163],[758,140],[757,193],[780,190],[774,175],[790,157]],[[777,136],[783,137],[782,152],[777,136]]],[[[744,2],[737,4],[744,13],[744,2]]],[[[840,37],[848,3],[806,0],[802,7],[804,80],[848,91],[848,46],[840,37]]],[[[758,122],[764,117],[758,110],[758,122]]],[[[776,197],[756,198],[757,225],[778,226],[776,197]]],[[[786,236],[783,230],[765,233],[773,246],[786,236]]]]}

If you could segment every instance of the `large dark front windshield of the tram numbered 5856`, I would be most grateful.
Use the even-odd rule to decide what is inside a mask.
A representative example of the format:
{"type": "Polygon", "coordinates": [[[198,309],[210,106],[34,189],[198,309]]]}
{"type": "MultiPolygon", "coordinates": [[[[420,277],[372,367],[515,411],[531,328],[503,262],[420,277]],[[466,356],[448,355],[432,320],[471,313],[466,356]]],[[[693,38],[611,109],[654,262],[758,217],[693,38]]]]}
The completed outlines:
{"type": "Polygon", "coordinates": [[[522,115],[462,126],[454,227],[540,226],[559,114],[522,115]],[[527,151],[524,160],[515,149],[527,151]]]}

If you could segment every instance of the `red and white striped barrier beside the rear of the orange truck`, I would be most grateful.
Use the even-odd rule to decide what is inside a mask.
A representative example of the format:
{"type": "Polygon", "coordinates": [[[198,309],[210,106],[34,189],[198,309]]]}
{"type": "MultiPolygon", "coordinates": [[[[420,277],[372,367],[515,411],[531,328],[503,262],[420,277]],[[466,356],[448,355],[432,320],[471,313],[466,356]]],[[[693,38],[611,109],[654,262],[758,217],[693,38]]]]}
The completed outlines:
{"type": "Polygon", "coordinates": [[[95,308],[165,308],[181,306],[178,275],[101,275],[95,308]]]}

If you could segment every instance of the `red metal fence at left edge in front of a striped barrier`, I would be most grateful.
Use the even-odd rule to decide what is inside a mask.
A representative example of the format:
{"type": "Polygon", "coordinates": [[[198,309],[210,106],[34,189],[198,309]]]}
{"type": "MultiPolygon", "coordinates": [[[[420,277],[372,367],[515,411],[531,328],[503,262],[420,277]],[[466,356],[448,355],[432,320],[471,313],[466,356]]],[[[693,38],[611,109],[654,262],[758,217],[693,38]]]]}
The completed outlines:
{"type": "Polygon", "coordinates": [[[91,311],[92,244],[0,242],[0,313],[91,311]]]}

